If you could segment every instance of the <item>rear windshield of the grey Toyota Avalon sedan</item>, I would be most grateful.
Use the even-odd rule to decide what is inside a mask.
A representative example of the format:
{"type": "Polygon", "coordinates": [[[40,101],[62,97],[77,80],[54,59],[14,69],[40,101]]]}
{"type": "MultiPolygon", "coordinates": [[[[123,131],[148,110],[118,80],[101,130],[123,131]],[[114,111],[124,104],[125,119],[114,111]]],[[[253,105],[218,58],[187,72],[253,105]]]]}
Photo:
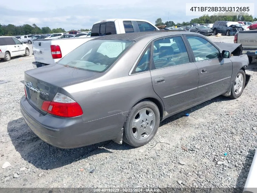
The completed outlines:
{"type": "Polygon", "coordinates": [[[92,72],[105,72],[134,43],[127,40],[91,40],[57,63],[92,72]]]}

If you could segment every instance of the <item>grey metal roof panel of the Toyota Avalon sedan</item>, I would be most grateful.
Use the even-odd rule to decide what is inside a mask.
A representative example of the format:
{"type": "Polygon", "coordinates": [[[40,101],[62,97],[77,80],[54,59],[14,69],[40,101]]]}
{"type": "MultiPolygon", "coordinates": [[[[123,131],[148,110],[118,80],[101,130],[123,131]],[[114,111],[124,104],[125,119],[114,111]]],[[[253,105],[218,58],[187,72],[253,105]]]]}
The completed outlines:
{"type": "Polygon", "coordinates": [[[143,38],[152,39],[168,36],[168,35],[176,35],[176,34],[196,34],[194,32],[187,32],[187,31],[148,31],[148,32],[134,32],[134,33],[127,33],[127,34],[113,34],[113,35],[106,35],[95,38],[93,40],[130,40],[130,41],[139,41],[143,38]]]}

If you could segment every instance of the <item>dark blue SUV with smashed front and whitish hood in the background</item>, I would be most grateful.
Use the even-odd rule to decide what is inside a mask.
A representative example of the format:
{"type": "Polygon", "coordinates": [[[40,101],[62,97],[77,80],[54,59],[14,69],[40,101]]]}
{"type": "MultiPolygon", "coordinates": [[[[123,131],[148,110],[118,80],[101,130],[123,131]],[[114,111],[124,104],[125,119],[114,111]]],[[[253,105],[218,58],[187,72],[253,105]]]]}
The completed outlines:
{"type": "Polygon", "coordinates": [[[233,21],[215,21],[213,24],[213,34],[226,34],[227,36],[235,35],[237,31],[243,31],[244,28],[238,22],[233,21]]]}

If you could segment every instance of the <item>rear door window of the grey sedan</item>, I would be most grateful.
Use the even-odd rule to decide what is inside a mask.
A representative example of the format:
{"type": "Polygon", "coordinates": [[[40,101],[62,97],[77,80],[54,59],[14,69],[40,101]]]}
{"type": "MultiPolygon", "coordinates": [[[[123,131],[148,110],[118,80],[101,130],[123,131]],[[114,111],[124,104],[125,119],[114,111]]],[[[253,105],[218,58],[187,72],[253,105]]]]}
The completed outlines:
{"type": "Polygon", "coordinates": [[[189,63],[189,56],[182,38],[163,38],[154,42],[155,69],[189,63]]]}

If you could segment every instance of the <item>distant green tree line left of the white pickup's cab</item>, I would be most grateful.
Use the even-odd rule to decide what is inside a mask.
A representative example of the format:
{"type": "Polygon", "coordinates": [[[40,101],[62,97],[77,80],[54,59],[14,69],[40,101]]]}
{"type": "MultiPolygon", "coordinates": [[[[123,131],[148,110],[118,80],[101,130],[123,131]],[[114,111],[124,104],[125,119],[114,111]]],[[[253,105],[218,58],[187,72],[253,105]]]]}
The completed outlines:
{"type": "MultiPolygon", "coordinates": [[[[89,29],[80,29],[80,31],[90,31],[89,29]]],[[[63,28],[50,27],[38,27],[35,23],[31,25],[25,24],[21,26],[15,26],[12,24],[1,25],[0,24],[0,36],[16,36],[26,34],[53,34],[53,33],[64,33],[66,32],[63,28]]]]}

